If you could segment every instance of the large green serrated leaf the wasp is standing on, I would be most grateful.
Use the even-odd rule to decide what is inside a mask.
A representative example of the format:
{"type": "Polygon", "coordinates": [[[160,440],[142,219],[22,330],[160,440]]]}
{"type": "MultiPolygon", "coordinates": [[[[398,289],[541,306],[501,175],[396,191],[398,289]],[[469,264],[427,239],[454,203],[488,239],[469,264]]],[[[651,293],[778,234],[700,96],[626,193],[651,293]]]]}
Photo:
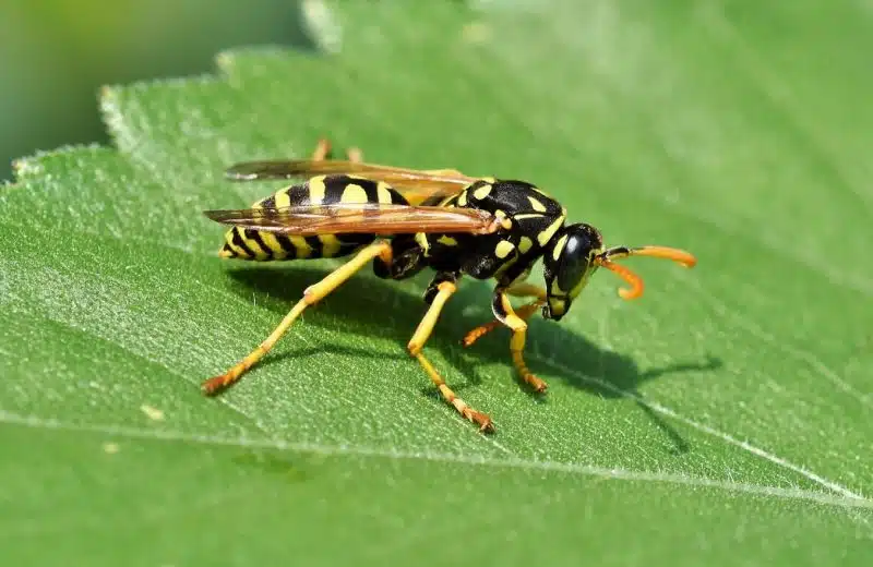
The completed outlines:
{"type": "MultiPolygon", "coordinates": [[[[23,159],[0,198],[0,550],[10,565],[868,565],[873,20],[812,2],[306,2],[321,55],[111,87],[117,149],[23,159]],[[335,51],[332,53],[332,51],[335,51]],[[535,181],[641,260],[507,335],[467,281],[363,270],[218,399],[335,262],[216,256],[238,160],[328,135],[368,160],[535,181]]],[[[538,278],[539,273],[534,275],[538,278]]]]}

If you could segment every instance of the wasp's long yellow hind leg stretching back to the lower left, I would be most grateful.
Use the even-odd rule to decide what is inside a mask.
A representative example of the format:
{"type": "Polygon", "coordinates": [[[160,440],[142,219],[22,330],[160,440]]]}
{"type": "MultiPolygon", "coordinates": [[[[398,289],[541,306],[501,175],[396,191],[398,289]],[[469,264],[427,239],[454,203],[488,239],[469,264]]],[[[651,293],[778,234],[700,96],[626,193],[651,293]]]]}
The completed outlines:
{"type": "Polygon", "coordinates": [[[273,333],[270,334],[270,337],[267,337],[266,340],[258,346],[256,349],[250,352],[229,371],[219,376],[215,376],[205,381],[201,386],[203,393],[206,395],[213,395],[237,382],[249,369],[254,366],[258,361],[264,357],[264,354],[270,352],[270,349],[272,349],[273,346],[282,338],[282,336],[285,335],[291,324],[297,321],[300,314],[303,313],[308,306],[313,305],[324,299],[325,295],[330,294],[332,291],[343,285],[348,278],[354,276],[356,272],[366,266],[368,262],[376,257],[380,257],[386,264],[391,264],[390,242],[373,242],[358,252],[358,254],[349,262],[343,264],[334,272],[325,276],[324,279],[308,287],[303,291],[303,299],[295,303],[294,307],[291,307],[291,311],[289,311],[288,314],[285,315],[285,318],[282,319],[282,323],[279,323],[273,333]]]}

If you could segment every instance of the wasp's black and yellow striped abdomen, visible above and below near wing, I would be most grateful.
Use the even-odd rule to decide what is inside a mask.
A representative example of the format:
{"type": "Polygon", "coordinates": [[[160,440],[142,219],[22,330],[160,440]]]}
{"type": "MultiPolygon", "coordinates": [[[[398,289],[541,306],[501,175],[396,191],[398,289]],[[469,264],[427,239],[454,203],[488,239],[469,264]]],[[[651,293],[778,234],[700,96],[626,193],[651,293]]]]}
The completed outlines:
{"type": "MultiPolygon", "coordinates": [[[[319,176],[282,189],[252,208],[282,208],[334,203],[394,203],[406,200],[391,185],[355,176],[319,176]]],[[[239,260],[330,258],[350,254],[375,239],[373,234],[287,236],[234,227],[225,233],[218,255],[239,260]]]]}

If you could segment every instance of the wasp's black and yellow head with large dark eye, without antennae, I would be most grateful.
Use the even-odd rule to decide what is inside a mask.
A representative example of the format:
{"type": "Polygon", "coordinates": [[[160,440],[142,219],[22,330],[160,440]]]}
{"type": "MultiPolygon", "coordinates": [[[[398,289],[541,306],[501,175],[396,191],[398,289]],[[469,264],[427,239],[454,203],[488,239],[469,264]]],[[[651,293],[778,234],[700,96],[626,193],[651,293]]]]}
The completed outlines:
{"type": "Polygon", "coordinates": [[[546,248],[543,267],[548,301],[542,316],[560,319],[597,269],[594,258],[603,251],[600,232],[584,222],[560,230],[546,248]]]}

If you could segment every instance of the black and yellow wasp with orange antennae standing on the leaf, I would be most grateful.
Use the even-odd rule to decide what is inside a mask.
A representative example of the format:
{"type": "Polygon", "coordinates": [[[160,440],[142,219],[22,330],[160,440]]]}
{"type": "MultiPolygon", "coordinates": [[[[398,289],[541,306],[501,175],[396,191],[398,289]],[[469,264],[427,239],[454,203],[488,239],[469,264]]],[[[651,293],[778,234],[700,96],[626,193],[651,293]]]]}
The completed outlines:
{"type": "Polygon", "coordinates": [[[560,321],[599,269],[615,273],[629,285],[624,299],[638,298],[643,280],[617,263],[629,256],[672,260],[685,267],[696,258],[666,246],[606,248],[600,232],[585,222],[566,224],[566,209],[526,181],[473,178],[454,169],[416,170],[362,160],[351,148],[348,159],[328,159],[322,140],[311,159],[247,161],[230,167],[235,181],[306,178],[254,203],[251,208],[206,210],[212,220],[229,225],[219,256],[249,261],[354,257],[303,291],[303,297],[273,333],[246,358],[202,389],[214,395],[237,382],[282,338],[307,307],[324,299],[372,262],[380,278],[405,279],[424,268],[434,272],[424,291],[427,311],[407,350],[461,415],[493,431],[491,418],[462,400],[423,353],[423,347],[462,277],[495,280],[493,321],[469,331],[462,343],[500,326],[512,331],[513,364],[534,391],[546,383],[524,360],[527,319],[541,310],[560,321]],[[545,287],[526,281],[533,266],[543,263],[545,287]],[[516,307],[510,298],[528,298],[516,307]]]}

